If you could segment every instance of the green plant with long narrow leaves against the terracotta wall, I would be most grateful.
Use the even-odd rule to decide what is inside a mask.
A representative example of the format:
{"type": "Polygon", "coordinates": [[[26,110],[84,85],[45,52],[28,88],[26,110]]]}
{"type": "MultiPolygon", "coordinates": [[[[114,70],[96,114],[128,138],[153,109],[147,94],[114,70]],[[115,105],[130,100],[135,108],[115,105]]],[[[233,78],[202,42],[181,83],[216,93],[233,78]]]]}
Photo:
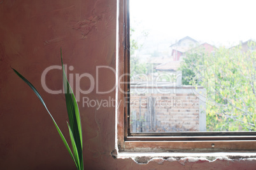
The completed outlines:
{"type": "Polygon", "coordinates": [[[61,56],[61,63],[62,63],[62,74],[63,74],[63,84],[64,84],[64,91],[65,91],[65,98],[66,98],[66,107],[68,110],[68,118],[69,122],[67,121],[68,124],[68,129],[69,129],[69,136],[71,140],[71,145],[73,148],[73,153],[71,152],[71,149],[69,148],[69,145],[64,138],[62,132],[59,129],[59,126],[55,122],[55,120],[52,117],[52,114],[50,114],[48,108],[45,105],[45,102],[43,101],[43,98],[41,98],[41,95],[39,92],[34,88],[34,86],[31,84],[31,82],[27,81],[25,77],[23,77],[17,70],[13,69],[14,72],[20,77],[23,81],[25,81],[29,87],[36,93],[36,96],[38,96],[39,100],[41,103],[43,103],[43,106],[46,108],[48,114],[52,118],[52,121],[60,135],[60,138],[64,142],[64,145],[66,146],[69,154],[71,155],[72,159],[74,160],[76,164],[76,168],[78,170],[83,169],[83,142],[82,142],[82,126],[81,126],[81,119],[80,119],[80,114],[79,114],[79,108],[78,104],[76,102],[75,95],[69,85],[63,62],[62,62],[62,51],[60,49],[60,56],[61,56]]]}

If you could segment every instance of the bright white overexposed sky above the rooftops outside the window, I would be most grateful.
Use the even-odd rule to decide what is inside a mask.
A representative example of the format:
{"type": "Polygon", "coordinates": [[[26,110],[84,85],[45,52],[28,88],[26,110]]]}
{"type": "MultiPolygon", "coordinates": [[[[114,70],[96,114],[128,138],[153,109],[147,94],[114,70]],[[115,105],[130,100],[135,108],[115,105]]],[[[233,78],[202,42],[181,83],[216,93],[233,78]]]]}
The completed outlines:
{"type": "Polygon", "coordinates": [[[170,43],[185,36],[213,45],[256,39],[255,0],[130,0],[130,15],[131,27],[170,43]]]}

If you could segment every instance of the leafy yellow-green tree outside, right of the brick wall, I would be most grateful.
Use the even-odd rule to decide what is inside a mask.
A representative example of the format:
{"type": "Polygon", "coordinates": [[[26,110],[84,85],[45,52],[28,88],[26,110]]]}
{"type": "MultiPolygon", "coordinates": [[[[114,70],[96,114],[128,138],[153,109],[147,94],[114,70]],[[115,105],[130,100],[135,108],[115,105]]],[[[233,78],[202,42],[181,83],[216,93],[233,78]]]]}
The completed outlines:
{"type": "Polygon", "coordinates": [[[236,46],[209,54],[200,49],[183,59],[183,83],[204,86],[207,100],[214,101],[206,102],[208,131],[256,131],[256,51],[236,46]]]}

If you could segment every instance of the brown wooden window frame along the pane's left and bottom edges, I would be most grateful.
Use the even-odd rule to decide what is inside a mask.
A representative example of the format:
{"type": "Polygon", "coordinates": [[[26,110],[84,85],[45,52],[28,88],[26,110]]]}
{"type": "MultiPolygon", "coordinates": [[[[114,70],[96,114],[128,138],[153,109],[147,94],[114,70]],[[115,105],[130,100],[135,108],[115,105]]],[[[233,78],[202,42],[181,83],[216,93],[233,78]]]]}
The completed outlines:
{"type": "Polygon", "coordinates": [[[117,3],[117,145],[119,151],[255,152],[256,132],[131,133],[129,110],[129,0],[117,3]],[[127,82],[127,83],[124,83],[127,82]],[[127,93],[123,93],[123,92],[127,93]]]}

